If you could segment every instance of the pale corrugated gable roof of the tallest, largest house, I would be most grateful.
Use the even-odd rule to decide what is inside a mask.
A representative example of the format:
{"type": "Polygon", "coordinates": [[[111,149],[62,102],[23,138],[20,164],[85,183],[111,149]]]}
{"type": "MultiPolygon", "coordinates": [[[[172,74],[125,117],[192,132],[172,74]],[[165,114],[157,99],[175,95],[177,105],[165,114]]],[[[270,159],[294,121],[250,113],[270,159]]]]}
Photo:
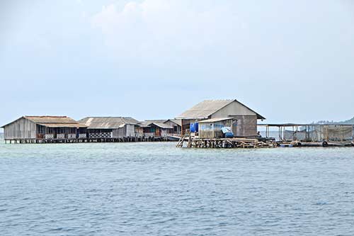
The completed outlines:
{"type": "MultiPolygon", "coordinates": [[[[206,119],[212,114],[216,113],[220,109],[224,108],[225,106],[229,105],[232,102],[238,102],[236,99],[225,99],[225,100],[205,100],[197,105],[193,106],[192,108],[188,109],[178,117],[177,119],[206,119]]],[[[253,111],[248,106],[240,103],[242,106],[248,108],[250,111],[253,111]]],[[[253,111],[256,113],[255,111],[253,111]]],[[[256,113],[258,119],[265,119],[263,116],[256,113]]]]}

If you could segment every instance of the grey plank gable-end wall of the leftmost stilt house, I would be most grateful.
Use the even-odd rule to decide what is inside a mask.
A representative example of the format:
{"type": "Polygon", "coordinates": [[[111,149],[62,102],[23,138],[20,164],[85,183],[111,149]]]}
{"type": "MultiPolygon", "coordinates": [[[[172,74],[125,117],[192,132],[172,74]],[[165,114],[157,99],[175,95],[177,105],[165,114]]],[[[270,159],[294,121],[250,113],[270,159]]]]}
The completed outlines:
{"type": "Polygon", "coordinates": [[[4,127],[4,139],[30,139],[35,138],[36,125],[30,120],[20,118],[4,127]]]}

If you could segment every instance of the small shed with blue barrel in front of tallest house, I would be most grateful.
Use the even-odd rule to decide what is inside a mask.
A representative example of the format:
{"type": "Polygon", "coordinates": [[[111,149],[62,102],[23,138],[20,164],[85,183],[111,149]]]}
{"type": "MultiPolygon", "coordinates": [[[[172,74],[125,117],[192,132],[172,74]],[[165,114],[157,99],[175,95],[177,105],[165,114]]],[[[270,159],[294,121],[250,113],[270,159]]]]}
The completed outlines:
{"type": "Polygon", "coordinates": [[[199,122],[199,137],[217,138],[224,137],[222,128],[229,127],[230,130],[236,128],[236,120],[234,118],[212,118],[199,122]]]}

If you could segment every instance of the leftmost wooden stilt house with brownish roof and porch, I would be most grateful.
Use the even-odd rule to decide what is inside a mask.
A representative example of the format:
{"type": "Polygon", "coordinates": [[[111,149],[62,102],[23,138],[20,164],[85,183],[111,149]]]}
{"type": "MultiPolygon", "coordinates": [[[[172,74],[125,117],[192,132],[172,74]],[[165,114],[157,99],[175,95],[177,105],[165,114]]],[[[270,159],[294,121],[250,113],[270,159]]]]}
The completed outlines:
{"type": "Polygon", "coordinates": [[[4,125],[4,140],[73,140],[86,135],[86,125],[67,116],[22,116],[4,125]]]}

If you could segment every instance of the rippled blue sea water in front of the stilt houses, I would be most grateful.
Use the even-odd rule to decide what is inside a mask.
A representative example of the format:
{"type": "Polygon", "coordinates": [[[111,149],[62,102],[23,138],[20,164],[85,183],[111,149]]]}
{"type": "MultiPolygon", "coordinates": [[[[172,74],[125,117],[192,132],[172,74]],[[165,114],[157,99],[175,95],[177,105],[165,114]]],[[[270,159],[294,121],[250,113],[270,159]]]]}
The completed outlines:
{"type": "Polygon", "coordinates": [[[354,149],[0,144],[0,235],[354,235],[354,149]]]}

